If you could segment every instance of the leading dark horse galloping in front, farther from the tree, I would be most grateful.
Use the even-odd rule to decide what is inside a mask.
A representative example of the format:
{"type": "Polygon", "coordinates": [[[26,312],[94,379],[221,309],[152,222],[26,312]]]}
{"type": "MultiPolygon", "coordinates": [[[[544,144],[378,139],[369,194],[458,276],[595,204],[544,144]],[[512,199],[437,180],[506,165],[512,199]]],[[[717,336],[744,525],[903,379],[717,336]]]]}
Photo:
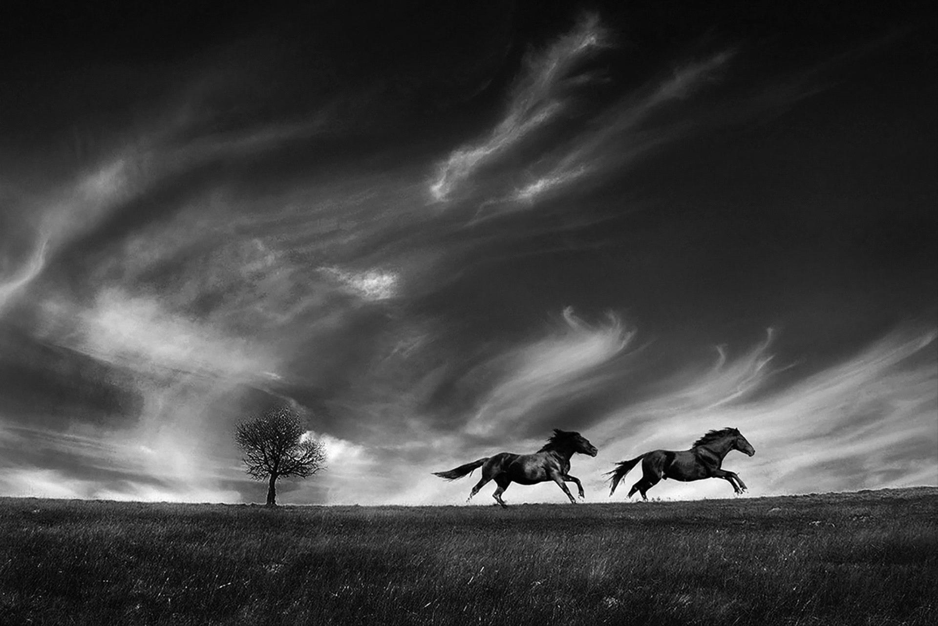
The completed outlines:
{"type": "Polygon", "coordinates": [[[612,496],[615,493],[616,485],[639,461],[642,461],[642,480],[632,485],[628,498],[631,498],[636,491],[640,491],[642,499],[648,499],[645,492],[663,478],[685,482],[699,481],[702,478],[722,478],[733,485],[737,494],[741,494],[746,491],[746,484],[739,479],[736,472],[719,467],[723,463],[723,457],[731,450],[738,450],[749,456],[756,454],[755,449],[738,430],[723,428],[709,431],[702,438],[694,441],[690,450],[655,450],[628,461],[620,461],[613,471],[606,473],[606,476],[613,476],[610,479],[613,488],[609,495],[612,496]]]}

